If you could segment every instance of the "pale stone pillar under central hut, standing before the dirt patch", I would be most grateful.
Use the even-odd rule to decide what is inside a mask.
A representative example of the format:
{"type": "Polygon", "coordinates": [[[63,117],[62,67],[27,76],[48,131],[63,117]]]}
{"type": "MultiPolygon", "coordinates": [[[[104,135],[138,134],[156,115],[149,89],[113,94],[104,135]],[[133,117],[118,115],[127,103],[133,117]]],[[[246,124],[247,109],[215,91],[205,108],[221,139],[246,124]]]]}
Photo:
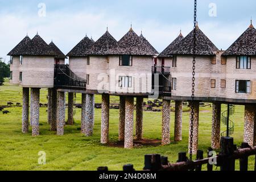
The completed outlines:
{"type": "Polygon", "coordinates": [[[133,148],[134,98],[125,97],[125,148],[133,148]]]}

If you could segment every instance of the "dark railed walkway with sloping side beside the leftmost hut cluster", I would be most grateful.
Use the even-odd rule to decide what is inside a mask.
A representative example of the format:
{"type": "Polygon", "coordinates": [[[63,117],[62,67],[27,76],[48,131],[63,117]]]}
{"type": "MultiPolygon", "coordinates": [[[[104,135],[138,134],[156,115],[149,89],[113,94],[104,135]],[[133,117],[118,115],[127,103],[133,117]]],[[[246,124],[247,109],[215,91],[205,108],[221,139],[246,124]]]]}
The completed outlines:
{"type": "Polygon", "coordinates": [[[86,90],[86,79],[71,71],[69,65],[56,64],[54,69],[54,86],[57,89],[86,90]]]}

